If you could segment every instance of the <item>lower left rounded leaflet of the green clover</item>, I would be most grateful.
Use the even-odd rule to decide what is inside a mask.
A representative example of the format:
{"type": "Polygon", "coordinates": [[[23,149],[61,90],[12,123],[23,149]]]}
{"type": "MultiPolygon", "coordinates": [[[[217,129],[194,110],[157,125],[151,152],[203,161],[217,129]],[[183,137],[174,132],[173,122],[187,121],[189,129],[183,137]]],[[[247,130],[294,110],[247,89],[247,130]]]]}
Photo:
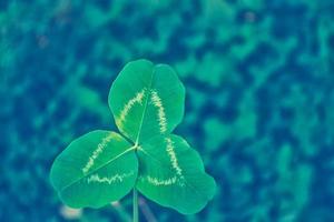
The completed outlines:
{"type": "Polygon", "coordinates": [[[50,172],[60,199],[72,208],[100,208],[126,195],[135,185],[138,160],[121,135],[92,131],[72,141],[50,172]]]}

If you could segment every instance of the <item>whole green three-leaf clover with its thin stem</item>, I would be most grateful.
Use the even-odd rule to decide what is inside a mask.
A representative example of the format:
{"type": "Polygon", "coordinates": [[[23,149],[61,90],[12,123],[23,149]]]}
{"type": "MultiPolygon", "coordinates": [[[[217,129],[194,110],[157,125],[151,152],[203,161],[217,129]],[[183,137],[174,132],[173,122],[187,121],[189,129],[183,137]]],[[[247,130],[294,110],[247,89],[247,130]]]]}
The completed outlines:
{"type": "Polygon", "coordinates": [[[216,183],[199,154],[171,134],[185,110],[185,88],[175,71],[143,59],[129,62],[108,102],[122,135],[92,131],[57,157],[50,180],[60,199],[72,208],[101,208],[134,190],[135,204],[139,191],[184,214],[200,211],[216,183]]]}

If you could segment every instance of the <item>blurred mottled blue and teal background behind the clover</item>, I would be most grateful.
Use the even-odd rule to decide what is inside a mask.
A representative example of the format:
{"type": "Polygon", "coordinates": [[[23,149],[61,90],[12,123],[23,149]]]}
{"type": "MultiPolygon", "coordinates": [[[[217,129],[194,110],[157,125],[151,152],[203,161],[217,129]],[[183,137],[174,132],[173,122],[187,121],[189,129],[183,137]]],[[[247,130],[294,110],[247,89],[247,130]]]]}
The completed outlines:
{"type": "Polygon", "coordinates": [[[218,183],[196,215],[140,199],[141,221],[334,221],[333,0],[0,0],[1,222],[129,221],[131,196],[70,210],[48,174],[116,130],[109,87],[139,58],[179,73],[177,133],[218,183]]]}

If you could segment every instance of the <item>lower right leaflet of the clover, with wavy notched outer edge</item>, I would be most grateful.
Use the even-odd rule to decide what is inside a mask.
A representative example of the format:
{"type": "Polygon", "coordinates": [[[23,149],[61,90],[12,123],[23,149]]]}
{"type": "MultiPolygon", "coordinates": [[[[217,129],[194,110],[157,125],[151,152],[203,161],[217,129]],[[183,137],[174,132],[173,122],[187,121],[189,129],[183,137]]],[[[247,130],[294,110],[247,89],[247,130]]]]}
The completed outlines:
{"type": "Polygon", "coordinates": [[[200,211],[213,198],[216,183],[199,154],[180,137],[155,137],[138,149],[137,189],[148,199],[180,213],[200,211]]]}

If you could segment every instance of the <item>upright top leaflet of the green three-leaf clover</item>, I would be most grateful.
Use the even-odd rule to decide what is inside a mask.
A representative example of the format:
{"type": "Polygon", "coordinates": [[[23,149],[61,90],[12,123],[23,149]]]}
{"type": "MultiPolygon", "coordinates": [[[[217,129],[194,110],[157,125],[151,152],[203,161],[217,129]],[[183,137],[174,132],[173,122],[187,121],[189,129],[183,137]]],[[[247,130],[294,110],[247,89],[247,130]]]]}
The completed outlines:
{"type": "Polygon", "coordinates": [[[185,88],[169,65],[137,60],[121,70],[108,100],[120,132],[138,144],[180,123],[185,88]]]}

